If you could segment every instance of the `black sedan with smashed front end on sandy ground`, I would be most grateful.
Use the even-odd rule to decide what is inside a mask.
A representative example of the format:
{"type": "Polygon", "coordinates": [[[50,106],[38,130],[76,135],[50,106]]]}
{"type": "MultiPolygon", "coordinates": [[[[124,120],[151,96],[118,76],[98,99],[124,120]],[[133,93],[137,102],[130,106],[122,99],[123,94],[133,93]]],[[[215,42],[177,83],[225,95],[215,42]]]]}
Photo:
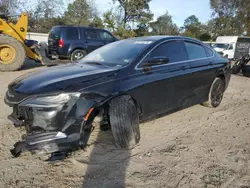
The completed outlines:
{"type": "Polygon", "coordinates": [[[116,145],[133,148],[140,121],[196,104],[218,107],[230,77],[230,62],[198,40],[152,36],[108,44],[9,84],[9,119],[27,131],[11,152],[84,147],[100,112],[116,145]]]}

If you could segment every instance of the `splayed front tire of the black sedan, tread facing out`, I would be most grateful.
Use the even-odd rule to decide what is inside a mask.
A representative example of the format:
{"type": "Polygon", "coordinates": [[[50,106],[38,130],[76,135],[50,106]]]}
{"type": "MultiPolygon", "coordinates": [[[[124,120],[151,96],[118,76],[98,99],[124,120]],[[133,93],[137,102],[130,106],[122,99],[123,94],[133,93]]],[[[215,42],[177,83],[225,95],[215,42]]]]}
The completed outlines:
{"type": "Polygon", "coordinates": [[[109,119],[115,143],[119,148],[132,149],[140,141],[139,114],[130,96],[113,99],[109,119]]]}

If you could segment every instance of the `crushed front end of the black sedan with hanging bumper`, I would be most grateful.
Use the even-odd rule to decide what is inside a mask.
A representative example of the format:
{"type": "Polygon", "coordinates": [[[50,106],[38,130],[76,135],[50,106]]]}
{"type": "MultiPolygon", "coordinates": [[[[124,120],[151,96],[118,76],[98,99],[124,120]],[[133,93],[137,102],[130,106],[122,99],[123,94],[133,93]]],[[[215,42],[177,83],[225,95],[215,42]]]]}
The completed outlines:
{"type": "Polygon", "coordinates": [[[92,100],[78,92],[20,96],[11,90],[5,96],[5,103],[13,108],[9,120],[16,127],[24,126],[27,132],[22,141],[14,144],[14,157],[24,151],[66,157],[86,146],[91,132],[86,116],[93,110],[92,100]]]}

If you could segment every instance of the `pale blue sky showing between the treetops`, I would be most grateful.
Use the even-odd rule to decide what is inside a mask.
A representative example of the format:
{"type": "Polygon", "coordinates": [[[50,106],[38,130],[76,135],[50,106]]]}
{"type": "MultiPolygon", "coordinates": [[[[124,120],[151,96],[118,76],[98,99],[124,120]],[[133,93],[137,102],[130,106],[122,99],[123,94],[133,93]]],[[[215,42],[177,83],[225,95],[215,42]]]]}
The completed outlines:
{"type": "MultiPolygon", "coordinates": [[[[110,9],[112,0],[95,0],[99,12],[103,13],[110,9]]],[[[173,21],[180,27],[184,20],[195,15],[204,23],[211,17],[209,0],[151,0],[150,10],[154,13],[154,19],[166,11],[173,17],[173,21]]]]}

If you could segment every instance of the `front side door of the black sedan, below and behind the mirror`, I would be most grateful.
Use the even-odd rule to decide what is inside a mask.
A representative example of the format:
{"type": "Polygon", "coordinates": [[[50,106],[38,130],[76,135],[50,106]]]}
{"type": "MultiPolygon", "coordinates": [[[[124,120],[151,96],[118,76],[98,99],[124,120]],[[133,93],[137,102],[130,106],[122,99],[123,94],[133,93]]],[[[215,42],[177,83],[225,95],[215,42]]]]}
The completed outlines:
{"type": "Polygon", "coordinates": [[[145,85],[138,90],[139,102],[143,109],[143,118],[161,114],[183,106],[189,96],[189,63],[182,40],[166,41],[155,47],[137,67],[142,72],[145,85]],[[151,58],[166,57],[167,64],[152,65],[145,71],[151,58]]]}

